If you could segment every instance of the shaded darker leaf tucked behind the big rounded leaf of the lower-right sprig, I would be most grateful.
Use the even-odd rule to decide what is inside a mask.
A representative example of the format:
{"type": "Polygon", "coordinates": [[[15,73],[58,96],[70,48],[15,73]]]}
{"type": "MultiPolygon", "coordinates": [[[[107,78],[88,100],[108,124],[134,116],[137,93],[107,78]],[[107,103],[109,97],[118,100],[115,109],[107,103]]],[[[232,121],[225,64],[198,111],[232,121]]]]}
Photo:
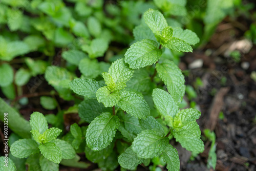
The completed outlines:
{"type": "Polygon", "coordinates": [[[143,130],[159,130],[164,134],[163,127],[161,124],[153,117],[148,116],[146,119],[139,119],[140,127],[143,130]]]}

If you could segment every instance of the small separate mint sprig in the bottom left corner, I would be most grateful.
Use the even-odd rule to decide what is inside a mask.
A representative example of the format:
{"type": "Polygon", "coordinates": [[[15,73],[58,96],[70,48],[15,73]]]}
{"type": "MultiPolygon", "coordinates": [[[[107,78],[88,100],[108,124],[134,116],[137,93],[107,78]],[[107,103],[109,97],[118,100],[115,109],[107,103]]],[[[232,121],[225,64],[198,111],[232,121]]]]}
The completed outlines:
{"type": "Polygon", "coordinates": [[[41,170],[56,170],[62,159],[75,157],[75,150],[71,144],[57,139],[62,132],[56,127],[48,129],[48,123],[44,115],[34,112],[30,116],[31,139],[19,139],[10,148],[10,152],[17,158],[28,158],[36,162],[39,159],[41,170]],[[38,154],[41,154],[38,156],[38,154]],[[35,155],[39,158],[35,158],[35,155]]]}

